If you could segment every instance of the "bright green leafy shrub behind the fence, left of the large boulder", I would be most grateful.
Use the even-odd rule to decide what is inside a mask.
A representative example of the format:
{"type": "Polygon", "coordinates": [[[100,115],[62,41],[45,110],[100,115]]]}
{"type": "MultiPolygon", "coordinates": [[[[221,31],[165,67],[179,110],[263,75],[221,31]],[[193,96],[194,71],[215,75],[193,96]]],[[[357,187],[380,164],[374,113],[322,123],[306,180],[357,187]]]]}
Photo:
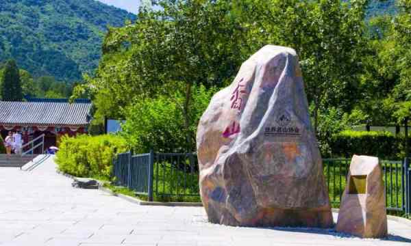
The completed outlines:
{"type": "Polygon", "coordinates": [[[194,87],[190,103],[190,126],[186,139],[182,105],[184,98],[176,92],[175,96],[158,96],[134,101],[125,109],[126,122],[121,135],[125,137],[134,152],[187,152],[195,151],[197,124],[206,110],[216,88],[194,87]]]}

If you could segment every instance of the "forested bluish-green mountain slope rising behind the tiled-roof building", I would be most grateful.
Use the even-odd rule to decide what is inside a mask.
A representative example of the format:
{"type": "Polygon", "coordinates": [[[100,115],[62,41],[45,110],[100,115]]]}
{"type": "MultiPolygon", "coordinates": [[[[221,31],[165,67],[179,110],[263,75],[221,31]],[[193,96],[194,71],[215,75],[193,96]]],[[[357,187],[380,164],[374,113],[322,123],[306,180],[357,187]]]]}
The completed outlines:
{"type": "Polygon", "coordinates": [[[95,0],[1,0],[0,62],[75,81],[97,67],[106,27],[134,18],[95,0]]]}

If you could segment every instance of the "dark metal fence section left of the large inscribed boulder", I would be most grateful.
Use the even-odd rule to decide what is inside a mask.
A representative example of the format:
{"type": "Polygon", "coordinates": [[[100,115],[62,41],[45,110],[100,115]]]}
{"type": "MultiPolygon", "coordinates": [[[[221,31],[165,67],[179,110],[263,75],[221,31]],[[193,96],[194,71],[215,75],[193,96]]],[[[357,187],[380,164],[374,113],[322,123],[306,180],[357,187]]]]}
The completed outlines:
{"type": "Polygon", "coordinates": [[[199,168],[195,153],[136,154],[125,152],[113,160],[116,184],[139,195],[199,197],[199,168]]]}

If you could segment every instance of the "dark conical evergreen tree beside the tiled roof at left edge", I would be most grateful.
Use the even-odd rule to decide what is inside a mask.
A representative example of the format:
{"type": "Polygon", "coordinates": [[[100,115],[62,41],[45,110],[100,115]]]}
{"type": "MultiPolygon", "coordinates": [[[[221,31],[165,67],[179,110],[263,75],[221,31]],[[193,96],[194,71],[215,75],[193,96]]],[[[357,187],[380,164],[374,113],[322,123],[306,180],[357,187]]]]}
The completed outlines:
{"type": "Polygon", "coordinates": [[[5,101],[23,100],[20,74],[18,72],[16,61],[14,60],[9,60],[5,64],[0,87],[0,96],[1,99],[5,101]]]}

